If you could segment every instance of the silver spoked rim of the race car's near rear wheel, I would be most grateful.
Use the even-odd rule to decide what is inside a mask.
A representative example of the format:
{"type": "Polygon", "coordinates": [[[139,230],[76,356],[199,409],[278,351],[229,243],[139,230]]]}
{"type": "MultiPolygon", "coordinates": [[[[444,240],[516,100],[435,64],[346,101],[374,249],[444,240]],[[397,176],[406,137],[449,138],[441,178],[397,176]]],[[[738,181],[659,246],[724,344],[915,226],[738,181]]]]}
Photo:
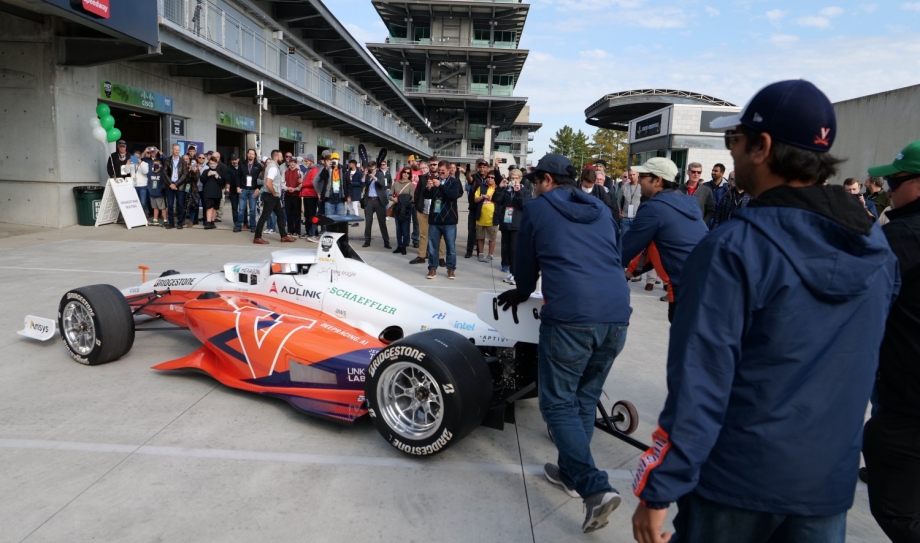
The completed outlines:
{"type": "Polygon", "coordinates": [[[387,425],[407,439],[431,437],[444,418],[441,388],[430,373],[409,362],[384,370],[377,401],[387,425]]]}

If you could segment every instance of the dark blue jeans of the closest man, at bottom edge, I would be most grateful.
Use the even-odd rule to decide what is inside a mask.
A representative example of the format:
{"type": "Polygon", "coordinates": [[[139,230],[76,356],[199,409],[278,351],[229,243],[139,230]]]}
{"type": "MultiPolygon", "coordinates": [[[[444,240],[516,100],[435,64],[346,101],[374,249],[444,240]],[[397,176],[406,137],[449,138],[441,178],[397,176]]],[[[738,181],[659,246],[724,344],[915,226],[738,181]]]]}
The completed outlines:
{"type": "Polygon", "coordinates": [[[763,513],[722,505],[691,492],[677,500],[673,543],[843,543],[846,511],[829,517],[763,513]]]}

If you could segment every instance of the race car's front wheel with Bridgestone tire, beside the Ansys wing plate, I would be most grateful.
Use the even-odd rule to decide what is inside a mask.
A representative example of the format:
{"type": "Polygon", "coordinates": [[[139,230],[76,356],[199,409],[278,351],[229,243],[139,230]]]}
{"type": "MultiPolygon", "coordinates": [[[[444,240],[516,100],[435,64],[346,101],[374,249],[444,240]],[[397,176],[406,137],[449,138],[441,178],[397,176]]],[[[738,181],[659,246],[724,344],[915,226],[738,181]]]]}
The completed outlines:
{"type": "Polygon", "coordinates": [[[61,331],[64,348],[70,356],[87,366],[117,360],[134,345],[134,317],[131,307],[124,295],[112,285],[80,287],[64,294],[58,305],[58,329],[61,331]],[[84,329],[87,332],[83,337],[92,339],[88,344],[82,345],[82,348],[77,344],[78,341],[68,334],[74,329],[72,322],[75,313],[86,317],[84,329]],[[74,342],[73,345],[71,341],[74,342]]]}

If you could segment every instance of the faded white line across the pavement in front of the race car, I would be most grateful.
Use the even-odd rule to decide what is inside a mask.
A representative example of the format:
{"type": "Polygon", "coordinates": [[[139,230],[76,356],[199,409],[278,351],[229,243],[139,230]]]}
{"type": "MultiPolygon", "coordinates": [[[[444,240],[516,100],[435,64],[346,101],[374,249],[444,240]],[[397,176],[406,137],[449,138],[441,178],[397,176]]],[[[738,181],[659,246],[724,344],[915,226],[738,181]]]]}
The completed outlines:
{"type": "MultiPolygon", "coordinates": [[[[517,475],[520,464],[496,464],[491,462],[457,462],[442,460],[413,460],[410,458],[379,458],[372,456],[341,456],[331,454],[276,453],[266,451],[241,451],[230,449],[203,449],[194,447],[159,447],[125,445],[120,443],[84,443],[77,441],[52,441],[44,439],[0,438],[0,449],[50,450],[96,453],[141,454],[146,456],[168,456],[173,458],[206,458],[212,460],[241,460],[254,462],[286,462],[293,464],[314,464],[329,466],[362,466],[378,468],[403,468],[435,471],[475,471],[496,474],[517,475]]],[[[611,479],[632,480],[628,469],[606,470],[611,479]]],[[[524,472],[542,476],[543,466],[527,464],[524,472]]]]}

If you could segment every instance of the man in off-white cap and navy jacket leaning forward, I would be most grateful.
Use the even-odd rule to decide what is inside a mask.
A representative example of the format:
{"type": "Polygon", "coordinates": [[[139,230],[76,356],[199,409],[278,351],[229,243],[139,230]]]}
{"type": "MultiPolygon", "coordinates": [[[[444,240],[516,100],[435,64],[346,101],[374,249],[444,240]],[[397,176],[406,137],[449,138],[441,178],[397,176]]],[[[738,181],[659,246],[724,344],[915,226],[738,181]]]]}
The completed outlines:
{"type": "MultiPolygon", "coordinates": [[[[623,234],[623,262],[632,262],[639,253],[655,244],[670,280],[667,298],[670,321],[677,307],[676,293],[680,291],[684,261],[709,229],[696,200],[677,190],[674,182],[677,165],[671,159],[650,158],[642,166],[633,166],[632,171],[639,175],[639,189],[647,200],[639,206],[629,231],[623,234]]],[[[647,263],[648,267],[651,262],[647,263]]],[[[644,270],[638,270],[636,275],[642,273],[644,270]]]]}

